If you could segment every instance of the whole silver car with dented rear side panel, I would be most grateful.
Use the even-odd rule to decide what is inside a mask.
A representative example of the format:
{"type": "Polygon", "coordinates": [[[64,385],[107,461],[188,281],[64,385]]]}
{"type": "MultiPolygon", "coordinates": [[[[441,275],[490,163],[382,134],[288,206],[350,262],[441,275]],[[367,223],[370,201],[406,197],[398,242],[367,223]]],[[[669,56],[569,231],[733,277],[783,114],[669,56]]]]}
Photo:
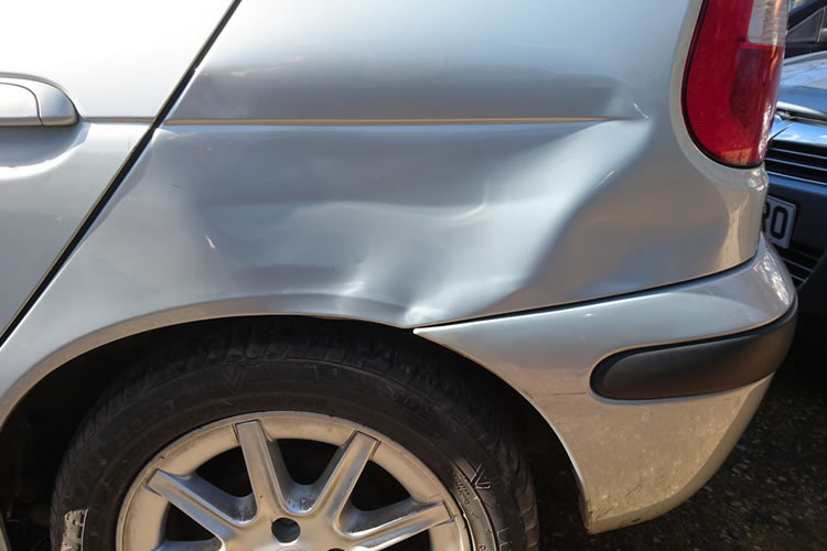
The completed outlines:
{"type": "Polygon", "coordinates": [[[588,530],[675,507],[794,327],[786,3],[4,6],[0,511],[64,551],[530,551],[559,444],[588,530]]]}

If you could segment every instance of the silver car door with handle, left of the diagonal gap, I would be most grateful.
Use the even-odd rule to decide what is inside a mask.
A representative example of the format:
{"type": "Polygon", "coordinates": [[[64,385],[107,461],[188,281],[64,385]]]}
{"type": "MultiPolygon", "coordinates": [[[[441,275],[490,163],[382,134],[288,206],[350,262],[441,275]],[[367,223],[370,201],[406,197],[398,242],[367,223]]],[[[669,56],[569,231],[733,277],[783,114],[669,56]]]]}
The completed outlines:
{"type": "Polygon", "coordinates": [[[138,153],[230,3],[29,0],[3,7],[0,333],[138,153]]]}

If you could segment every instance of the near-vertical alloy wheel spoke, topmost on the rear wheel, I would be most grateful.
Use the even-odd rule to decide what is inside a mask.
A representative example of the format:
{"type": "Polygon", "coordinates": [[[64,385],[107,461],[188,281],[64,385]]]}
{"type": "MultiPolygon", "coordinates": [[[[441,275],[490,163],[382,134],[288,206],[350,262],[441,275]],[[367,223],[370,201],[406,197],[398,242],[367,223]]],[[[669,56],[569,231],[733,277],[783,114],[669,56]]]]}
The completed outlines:
{"type": "Polygon", "coordinates": [[[256,506],[262,514],[287,511],[286,496],[293,485],[278,444],[270,444],[261,423],[248,421],[236,425],[256,506]]]}

